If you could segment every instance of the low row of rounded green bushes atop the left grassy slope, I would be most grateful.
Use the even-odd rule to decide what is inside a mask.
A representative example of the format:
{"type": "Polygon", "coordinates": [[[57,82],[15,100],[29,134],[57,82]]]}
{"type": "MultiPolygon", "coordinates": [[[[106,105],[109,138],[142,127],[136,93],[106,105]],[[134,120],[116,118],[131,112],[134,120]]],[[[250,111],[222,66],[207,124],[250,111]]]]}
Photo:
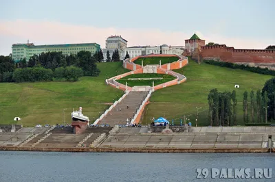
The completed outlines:
{"type": "Polygon", "coordinates": [[[53,79],[78,81],[78,78],[82,76],[83,70],[74,66],[56,68],[54,71],[43,67],[17,68],[13,73],[5,72],[0,75],[0,81],[17,83],[25,81],[52,81],[53,79]]]}

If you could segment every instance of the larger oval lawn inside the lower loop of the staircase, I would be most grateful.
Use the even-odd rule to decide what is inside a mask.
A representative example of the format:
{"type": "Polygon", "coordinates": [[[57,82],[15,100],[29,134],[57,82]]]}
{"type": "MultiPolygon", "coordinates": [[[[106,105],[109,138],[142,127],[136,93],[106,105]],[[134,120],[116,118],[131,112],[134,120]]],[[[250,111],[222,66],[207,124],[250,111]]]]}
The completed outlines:
{"type": "Polygon", "coordinates": [[[159,84],[165,83],[167,81],[171,81],[175,79],[175,77],[171,75],[166,75],[166,74],[157,74],[157,73],[144,73],[144,74],[133,74],[129,75],[127,77],[123,77],[122,79],[118,79],[117,81],[119,83],[122,83],[127,86],[133,87],[133,86],[153,86],[153,81],[154,85],[157,86],[159,84]],[[159,78],[162,77],[163,79],[151,79],[151,80],[129,80],[129,78],[159,78]]]}

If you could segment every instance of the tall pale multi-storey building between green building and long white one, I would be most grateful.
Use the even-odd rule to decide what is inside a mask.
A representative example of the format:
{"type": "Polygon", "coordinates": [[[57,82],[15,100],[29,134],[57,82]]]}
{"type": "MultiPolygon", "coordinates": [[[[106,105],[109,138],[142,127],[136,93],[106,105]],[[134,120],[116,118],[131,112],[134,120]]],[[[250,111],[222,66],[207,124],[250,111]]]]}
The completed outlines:
{"type": "Polygon", "coordinates": [[[115,49],[118,49],[118,53],[120,53],[120,60],[124,60],[124,49],[127,47],[127,42],[121,36],[109,36],[105,44],[106,49],[102,49],[104,60],[107,60],[107,51],[109,51],[110,57],[112,57],[115,49]]]}

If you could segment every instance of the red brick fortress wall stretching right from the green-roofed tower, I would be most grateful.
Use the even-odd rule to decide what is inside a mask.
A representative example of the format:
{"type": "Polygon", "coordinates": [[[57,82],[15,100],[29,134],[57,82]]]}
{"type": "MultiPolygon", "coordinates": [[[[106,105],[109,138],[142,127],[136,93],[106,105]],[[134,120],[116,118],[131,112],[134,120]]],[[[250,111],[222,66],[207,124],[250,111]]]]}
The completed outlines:
{"type": "Polygon", "coordinates": [[[218,58],[223,62],[275,64],[275,50],[234,49],[225,44],[201,47],[203,59],[218,58]]]}

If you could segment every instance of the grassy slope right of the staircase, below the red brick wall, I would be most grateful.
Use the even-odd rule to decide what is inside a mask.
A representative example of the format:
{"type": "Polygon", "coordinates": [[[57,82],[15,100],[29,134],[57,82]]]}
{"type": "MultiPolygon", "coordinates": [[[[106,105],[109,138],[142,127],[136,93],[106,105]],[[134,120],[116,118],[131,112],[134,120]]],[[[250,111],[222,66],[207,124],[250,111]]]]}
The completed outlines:
{"type": "MultiPolygon", "coordinates": [[[[190,59],[189,59],[190,60],[190,59]]],[[[212,88],[219,91],[236,90],[238,99],[238,124],[243,125],[243,92],[262,89],[265,81],[272,76],[251,73],[245,70],[221,68],[209,64],[197,64],[190,61],[187,66],[175,70],[187,77],[186,82],[153,92],[151,103],[146,106],[142,122],[148,124],[150,119],[164,116],[175,123],[183,120],[184,115],[195,125],[196,107],[199,109],[199,126],[208,126],[208,93],[212,88]],[[240,88],[234,88],[239,84],[240,88]]]]}

